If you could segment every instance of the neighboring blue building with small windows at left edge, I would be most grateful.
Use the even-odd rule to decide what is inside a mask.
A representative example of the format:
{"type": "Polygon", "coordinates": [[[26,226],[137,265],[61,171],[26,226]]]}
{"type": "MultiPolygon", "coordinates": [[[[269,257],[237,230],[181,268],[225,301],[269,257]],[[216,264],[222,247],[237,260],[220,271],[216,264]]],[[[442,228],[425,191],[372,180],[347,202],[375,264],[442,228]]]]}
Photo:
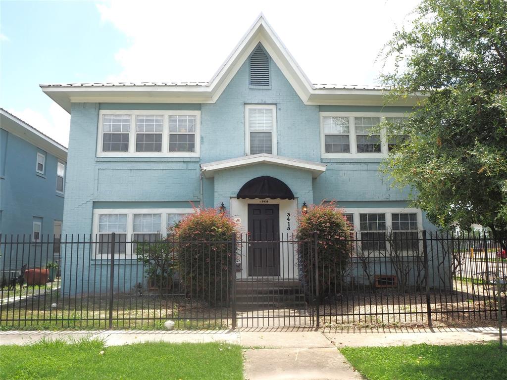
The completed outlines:
{"type": "Polygon", "coordinates": [[[60,238],[67,148],[2,108],[0,127],[0,265],[4,270],[19,269],[27,264],[30,248],[28,265],[33,268],[41,265],[40,260],[45,264],[46,256],[53,256],[46,247],[41,253],[37,243],[60,238]],[[23,235],[33,244],[24,246],[24,258],[19,246],[18,262],[11,263],[10,252],[5,251],[10,245],[4,243],[21,242],[23,235]]]}

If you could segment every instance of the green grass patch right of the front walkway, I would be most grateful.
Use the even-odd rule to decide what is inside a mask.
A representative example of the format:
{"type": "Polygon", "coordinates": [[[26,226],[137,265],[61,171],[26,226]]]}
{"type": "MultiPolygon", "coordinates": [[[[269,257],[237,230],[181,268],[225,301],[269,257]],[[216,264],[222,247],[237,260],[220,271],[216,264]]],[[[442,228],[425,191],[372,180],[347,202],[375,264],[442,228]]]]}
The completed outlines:
{"type": "Polygon", "coordinates": [[[499,380],[507,378],[507,350],[498,343],[462,346],[343,348],[369,380],[499,380]]]}

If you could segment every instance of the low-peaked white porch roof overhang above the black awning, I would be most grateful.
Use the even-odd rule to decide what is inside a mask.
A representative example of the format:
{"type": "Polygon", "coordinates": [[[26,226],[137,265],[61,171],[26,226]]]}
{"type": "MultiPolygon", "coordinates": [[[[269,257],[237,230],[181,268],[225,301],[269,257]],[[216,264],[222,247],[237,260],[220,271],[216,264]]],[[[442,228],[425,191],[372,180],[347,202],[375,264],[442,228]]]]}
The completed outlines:
{"type": "Polygon", "coordinates": [[[242,156],[223,161],[215,161],[207,164],[201,164],[201,172],[206,178],[213,177],[215,172],[219,170],[241,168],[244,166],[256,165],[256,164],[269,164],[284,166],[287,168],[296,168],[301,170],[308,170],[312,173],[312,177],[316,178],[323,172],[325,172],[325,164],[313,161],[296,160],[292,158],[260,154],[251,156],[242,156]]]}

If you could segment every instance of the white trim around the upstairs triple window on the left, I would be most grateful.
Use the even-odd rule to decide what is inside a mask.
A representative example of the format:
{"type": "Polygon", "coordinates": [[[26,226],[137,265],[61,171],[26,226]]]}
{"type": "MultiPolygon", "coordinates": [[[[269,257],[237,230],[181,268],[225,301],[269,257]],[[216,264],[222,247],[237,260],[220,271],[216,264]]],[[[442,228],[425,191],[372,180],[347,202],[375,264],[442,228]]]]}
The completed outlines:
{"type": "Polygon", "coordinates": [[[97,133],[97,157],[200,157],[201,154],[201,111],[149,111],[149,110],[108,110],[103,109],[98,114],[98,133],[97,133]],[[130,115],[130,132],[128,151],[102,151],[102,123],[104,115],[130,115]],[[162,151],[161,152],[139,152],[135,151],[135,124],[137,115],[157,115],[163,116],[162,124],[162,151]],[[169,116],[172,115],[194,115],[195,120],[195,151],[193,152],[170,152],[169,151],[169,116]]]}

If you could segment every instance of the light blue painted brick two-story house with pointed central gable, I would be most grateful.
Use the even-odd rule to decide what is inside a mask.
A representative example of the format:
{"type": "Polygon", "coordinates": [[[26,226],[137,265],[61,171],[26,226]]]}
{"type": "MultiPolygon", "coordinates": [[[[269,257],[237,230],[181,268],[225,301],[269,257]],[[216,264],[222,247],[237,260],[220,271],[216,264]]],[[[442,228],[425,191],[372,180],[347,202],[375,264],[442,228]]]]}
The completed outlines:
{"type": "MultiPolygon", "coordinates": [[[[208,83],[41,87],[71,115],[64,234],[164,233],[192,205],[223,204],[245,233],[290,235],[303,204],[330,200],[364,234],[432,227],[379,172],[384,133],[369,135],[417,99],[385,104],[383,90],[312,84],[262,16],[208,83]]],[[[79,254],[76,283],[106,258],[79,254]]],[[[242,264],[241,276],[297,277],[275,261],[242,264]]],[[[142,277],[131,273],[119,275],[142,277]]]]}

